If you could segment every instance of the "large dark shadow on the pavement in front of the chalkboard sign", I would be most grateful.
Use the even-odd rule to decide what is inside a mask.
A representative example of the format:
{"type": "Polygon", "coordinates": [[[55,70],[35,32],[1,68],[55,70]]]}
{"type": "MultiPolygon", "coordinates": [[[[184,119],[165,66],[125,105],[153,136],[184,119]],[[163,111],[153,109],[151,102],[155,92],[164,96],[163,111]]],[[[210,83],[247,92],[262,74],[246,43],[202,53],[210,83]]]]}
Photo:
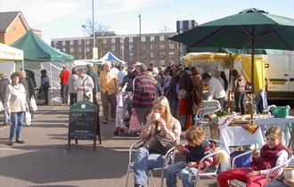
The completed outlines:
{"type": "Polygon", "coordinates": [[[111,179],[126,175],[127,149],[97,147],[94,152],[90,145],[76,148],[67,151],[64,145],[16,147],[36,151],[0,158],[1,175],[32,183],[111,179]]]}

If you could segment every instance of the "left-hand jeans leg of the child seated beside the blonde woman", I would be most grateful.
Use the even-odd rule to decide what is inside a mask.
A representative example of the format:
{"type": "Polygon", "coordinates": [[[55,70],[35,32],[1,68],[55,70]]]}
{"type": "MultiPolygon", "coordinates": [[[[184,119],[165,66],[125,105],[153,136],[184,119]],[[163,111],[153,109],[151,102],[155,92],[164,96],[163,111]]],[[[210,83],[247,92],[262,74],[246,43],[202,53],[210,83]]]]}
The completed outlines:
{"type": "Polygon", "coordinates": [[[186,162],[179,161],[167,167],[167,187],[176,187],[176,175],[186,166],[186,162]]]}

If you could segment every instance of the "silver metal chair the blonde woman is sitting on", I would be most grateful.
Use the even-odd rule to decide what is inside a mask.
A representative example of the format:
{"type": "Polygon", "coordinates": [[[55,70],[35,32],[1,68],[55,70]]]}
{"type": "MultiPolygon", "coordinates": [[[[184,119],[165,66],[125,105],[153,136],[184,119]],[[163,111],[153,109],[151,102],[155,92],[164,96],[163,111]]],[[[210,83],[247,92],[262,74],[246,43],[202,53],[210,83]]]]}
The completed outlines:
{"type": "MultiPolygon", "coordinates": [[[[143,146],[143,141],[137,141],[135,143],[133,143],[129,149],[129,154],[128,154],[128,166],[127,166],[127,183],[126,183],[126,187],[128,184],[128,177],[130,172],[133,172],[133,167],[134,167],[134,159],[135,156],[132,154],[133,152],[135,152],[137,149],[139,149],[140,147],[143,146]]],[[[161,171],[161,179],[160,179],[160,187],[163,186],[163,181],[164,181],[164,171],[167,169],[167,167],[174,162],[175,159],[175,147],[171,148],[170,150],[167,150],[164,162],[162,167],[158,167],[158,168],[153,168],[151,170],[149,170],[149,176],[151,177],[151,181],[152,181],[152,186],[155,187],[155,183],[154,183],[154,179],[153,179],[153,173],[154,171],[160,170],[161,171]]]]}

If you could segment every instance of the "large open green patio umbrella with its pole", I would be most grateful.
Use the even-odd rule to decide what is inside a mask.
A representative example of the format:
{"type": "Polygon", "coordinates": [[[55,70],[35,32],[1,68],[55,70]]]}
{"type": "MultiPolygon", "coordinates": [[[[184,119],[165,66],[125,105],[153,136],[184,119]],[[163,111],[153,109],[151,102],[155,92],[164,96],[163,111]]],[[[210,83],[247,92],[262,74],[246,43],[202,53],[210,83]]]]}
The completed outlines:
{"type": "MultiPolygon", "coordinates": [[[[255,49],[294,50],[294,20],[256,8],[212,20],[169,39],[188,48],[218,47],[251,50],[253,86],[255,49]]],[[[252,115],[252,114],[251,114],[252,115]]]]}

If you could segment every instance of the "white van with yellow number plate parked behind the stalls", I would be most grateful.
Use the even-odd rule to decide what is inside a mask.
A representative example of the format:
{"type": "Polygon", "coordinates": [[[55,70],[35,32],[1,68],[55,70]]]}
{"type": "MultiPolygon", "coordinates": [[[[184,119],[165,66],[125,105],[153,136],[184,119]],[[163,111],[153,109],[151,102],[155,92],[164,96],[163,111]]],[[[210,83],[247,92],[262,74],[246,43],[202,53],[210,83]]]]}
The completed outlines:
{"type": "Polygon", "coordinates": [[[268,100],[294,100],[294,52],[265,55],[265,89],[268,100]]]}

